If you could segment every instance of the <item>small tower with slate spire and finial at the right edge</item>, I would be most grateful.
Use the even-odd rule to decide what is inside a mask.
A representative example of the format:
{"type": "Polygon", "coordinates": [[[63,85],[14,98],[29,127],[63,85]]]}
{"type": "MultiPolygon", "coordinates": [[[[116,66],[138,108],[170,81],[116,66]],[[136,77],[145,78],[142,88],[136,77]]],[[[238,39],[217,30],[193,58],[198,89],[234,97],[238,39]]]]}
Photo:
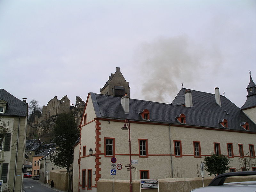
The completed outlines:
{"type": "Polygon", "coordinates": [[[250,83],[246,87],[247,99],[241,110],[256,124],[256,84],[252,80],[250,71],[250,83]]]}

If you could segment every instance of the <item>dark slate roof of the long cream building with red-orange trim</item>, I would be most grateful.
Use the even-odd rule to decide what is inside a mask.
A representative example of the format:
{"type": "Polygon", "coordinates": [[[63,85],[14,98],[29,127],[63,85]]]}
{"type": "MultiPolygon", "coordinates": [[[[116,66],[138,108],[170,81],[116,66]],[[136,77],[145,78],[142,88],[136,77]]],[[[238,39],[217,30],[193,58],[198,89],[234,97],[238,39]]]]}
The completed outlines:
{"type": "Polygon", "coordinates": [[[224,96],[220,96],[221,107],[215,102],[215,94],[190,90],[192,92],[193,107],[180,106],[185,104],[182,88],[172,104],[146,100],[129,99],[129,114],[124,114],[121,98],[90,93],[95,114],[97,117],[143,120],[139,112],[148,109],[150,122],[180,124],[175,118],[183,113],[186,116],[186,125],[210,127],[216,129],[230,129],[244,132],[256,132],[256,125],[234,103],[224,96]],[[227,119],[228,128],[219,124],[219,120],[227,119]],[[250,131],[246,131],[240,123],[248,122],[250,131]]]}

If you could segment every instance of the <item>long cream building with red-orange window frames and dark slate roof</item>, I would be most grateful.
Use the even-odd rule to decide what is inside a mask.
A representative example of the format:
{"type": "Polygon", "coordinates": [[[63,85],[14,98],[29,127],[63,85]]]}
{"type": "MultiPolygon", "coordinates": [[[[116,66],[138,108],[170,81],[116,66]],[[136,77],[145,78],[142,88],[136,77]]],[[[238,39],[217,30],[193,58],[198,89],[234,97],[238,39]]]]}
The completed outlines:
{"type": "Polygon", "coordinates": [[[132,180],[198,177],[199,165],[211,152],[232,160],[230,172],[243,169],[240,158],[255,158],[255,88],[250,77],[241,109],[218,87],[214,93],[182,88],[171,104],[90,92],[74,147],[73,191],[97,191],[99,179],[112,180],[112,157],[122,164],[115,177],[129,180],[128,131],[121,129],[126,119],[131,159],[137,163],[132,164],[132,180]]]}

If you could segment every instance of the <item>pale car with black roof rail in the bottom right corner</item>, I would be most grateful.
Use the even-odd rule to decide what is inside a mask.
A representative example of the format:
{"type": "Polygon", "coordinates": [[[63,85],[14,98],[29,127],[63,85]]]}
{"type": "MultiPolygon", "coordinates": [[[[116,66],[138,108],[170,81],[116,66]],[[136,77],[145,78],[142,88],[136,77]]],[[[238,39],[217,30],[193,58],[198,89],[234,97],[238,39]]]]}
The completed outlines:
{"type": "Polygon", "coordinates": [[[223,173],[215,177],[208,187],[196,188],[190,192],[256,192],[256,177],[255,181],[224,183],[228,177],[250,175],[256,176],[256,171],[223,173]]]}

